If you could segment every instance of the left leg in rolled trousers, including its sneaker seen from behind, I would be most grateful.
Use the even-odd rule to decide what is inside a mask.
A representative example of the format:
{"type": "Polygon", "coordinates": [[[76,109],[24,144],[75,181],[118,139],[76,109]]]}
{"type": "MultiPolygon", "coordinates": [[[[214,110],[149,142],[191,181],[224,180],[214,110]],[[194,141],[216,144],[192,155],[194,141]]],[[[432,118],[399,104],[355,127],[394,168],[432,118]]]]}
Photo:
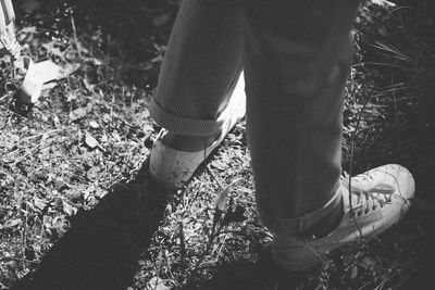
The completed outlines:
{"type": "Polygon", "coordinates": [[[245,116],[238,0],[185,0],[179,9],[149,112],[162,129],[151,177],[181,187],[245,116]]]}

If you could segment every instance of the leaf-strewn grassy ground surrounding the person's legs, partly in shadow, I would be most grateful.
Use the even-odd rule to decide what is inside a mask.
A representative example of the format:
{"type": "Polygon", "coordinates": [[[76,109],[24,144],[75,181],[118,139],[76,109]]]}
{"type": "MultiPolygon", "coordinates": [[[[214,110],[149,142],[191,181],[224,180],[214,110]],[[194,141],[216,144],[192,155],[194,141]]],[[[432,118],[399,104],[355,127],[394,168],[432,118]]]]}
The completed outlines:
{"type": "Polygon", "coordinates": [[[10,106],[21,79],[1,62],[0,289],[430,289],[435,14],[400,4],[358,14],[344,169],[401,163],[418,198],[387,235],[291,276],[265,254],[244,123],[183,190],[149,180],[160,128],[147,108],[177,1],[17,8],[24,53],[78,70],[21,115],[10,106]]]}

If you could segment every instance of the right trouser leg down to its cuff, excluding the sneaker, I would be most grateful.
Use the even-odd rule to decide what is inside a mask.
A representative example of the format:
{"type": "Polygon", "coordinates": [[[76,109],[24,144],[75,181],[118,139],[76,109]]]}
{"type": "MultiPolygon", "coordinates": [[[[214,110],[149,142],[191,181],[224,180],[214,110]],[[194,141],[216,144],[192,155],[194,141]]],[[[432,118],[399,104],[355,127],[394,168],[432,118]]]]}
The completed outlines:
{"type": "Polygon", "coordinates": [[[299,220],[297,231],[341,217],[343,89],[358,4],[245,2],[248,140],[258,206],[272,230],[322,207],[319,220],[299,220]]]}

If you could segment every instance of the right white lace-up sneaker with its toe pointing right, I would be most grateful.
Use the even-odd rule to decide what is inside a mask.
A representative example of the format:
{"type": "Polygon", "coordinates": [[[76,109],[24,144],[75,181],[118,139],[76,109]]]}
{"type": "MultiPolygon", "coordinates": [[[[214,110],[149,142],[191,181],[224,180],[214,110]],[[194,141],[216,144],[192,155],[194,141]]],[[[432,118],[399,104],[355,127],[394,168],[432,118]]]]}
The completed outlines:
{"type": "Polygon", "coordinates": [[[320,239],[274,235],[272,259],[289,270],[321,264],[323,255],[352,241],[370,239],[397,224],[411,206],[415,184],[403,166],[389,164],[341,180],[345,214],[338,227],[320,239]],[[349,194],[351,204],[349,202],[349,194]]]}

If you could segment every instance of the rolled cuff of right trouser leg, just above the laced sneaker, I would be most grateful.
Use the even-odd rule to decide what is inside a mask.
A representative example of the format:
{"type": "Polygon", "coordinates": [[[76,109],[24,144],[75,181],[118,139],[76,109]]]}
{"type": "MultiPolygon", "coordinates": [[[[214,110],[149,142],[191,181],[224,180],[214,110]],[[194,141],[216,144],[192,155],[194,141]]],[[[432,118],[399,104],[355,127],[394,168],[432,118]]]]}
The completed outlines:
{"type": "Polygon", "coordinates": [[[303,231],[306,231],[311,226],[315,225],[331,212],[336,209],[341,201],[341,187],[339,186],[336,190],[334,197],[327,201],[323,206],[319,207],[318,210],[306,213],[301,216],[294,217],[294,218],[283,218],[273,216],[265,211],[260,211],[260,216],[263,225],[265,225],[271,231],[275,234],[286,234],[290,236],[298,237],[303,231]]]}

